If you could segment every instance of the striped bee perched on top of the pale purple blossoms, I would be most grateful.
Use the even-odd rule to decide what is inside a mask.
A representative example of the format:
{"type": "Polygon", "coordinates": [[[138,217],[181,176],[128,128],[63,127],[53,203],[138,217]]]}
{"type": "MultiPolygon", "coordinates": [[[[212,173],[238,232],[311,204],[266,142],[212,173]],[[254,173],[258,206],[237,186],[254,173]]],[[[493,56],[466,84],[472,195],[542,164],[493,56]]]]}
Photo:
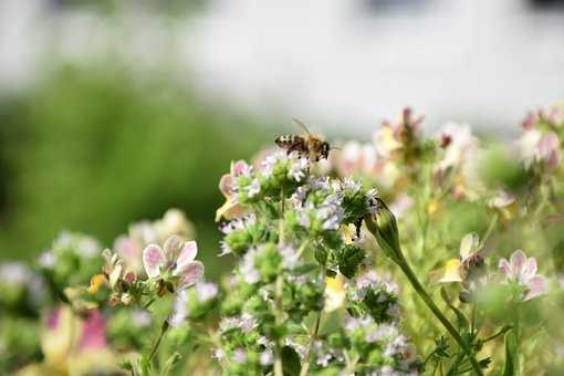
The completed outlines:
{"type": "Polygon", "coordinates": [[[307,127],[299,119],[293,118],[295,124],[301,127],[305,135],[284,135],[279,136],[274,140],[276,145],[283,149],[286,149],[288,154],[297,152],[300,157],[306,156],[310,160],[318,161],[320,159],[327,159],[331,150],[330,144],[313,135],[307,127]]]}

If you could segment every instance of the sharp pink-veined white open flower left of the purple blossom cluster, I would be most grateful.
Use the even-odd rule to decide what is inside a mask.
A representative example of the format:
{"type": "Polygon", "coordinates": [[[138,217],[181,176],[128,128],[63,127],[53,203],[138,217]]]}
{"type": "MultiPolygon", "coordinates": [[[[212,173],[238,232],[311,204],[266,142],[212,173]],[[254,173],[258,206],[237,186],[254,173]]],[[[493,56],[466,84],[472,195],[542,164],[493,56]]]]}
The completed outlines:
{"type": "Polygon", "coordinates": [[[149,278],[173,278],[179,289],[188,288],[203,275],[203,264],[195,261],[198,246],[171,236],[160,248],[149,244],[143,251],[143,265],[149,278]]]}

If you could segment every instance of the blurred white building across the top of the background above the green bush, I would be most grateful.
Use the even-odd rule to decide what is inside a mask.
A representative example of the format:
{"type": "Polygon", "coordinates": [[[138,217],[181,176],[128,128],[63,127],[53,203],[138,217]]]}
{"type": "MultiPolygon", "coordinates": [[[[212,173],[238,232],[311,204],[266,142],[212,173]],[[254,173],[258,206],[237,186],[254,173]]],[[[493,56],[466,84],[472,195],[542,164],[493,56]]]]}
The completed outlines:
{"type": "Polygon", "coordinates": [[[218,0],[174,22],[126,7],[118,24],[48,3],[0,1],[2,86],[32,79],[50,41],[77,60],[118,41],[132,66],[174,55],[211,98],[316,128],[367,129],[410,105],[430,127],[512,132],[564,98],[564,10],[525,0],[218,0]]]}

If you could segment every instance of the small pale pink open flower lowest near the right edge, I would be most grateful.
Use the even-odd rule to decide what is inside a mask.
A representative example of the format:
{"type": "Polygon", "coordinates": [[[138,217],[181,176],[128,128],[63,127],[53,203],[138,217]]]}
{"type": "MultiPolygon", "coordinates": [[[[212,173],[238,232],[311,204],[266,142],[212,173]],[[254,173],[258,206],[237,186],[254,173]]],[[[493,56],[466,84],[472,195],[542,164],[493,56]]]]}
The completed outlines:
{"type": "Polygon", "coordinates": [[[526,258],[526,254],[518,250],[511,254],[510,261],[501,259],[499,268],[505,274],[505,280],[515,282],[526,288],[524,301],[546,293],[547,281],[544,275],[536,274],[535,258],[526,258]]]}

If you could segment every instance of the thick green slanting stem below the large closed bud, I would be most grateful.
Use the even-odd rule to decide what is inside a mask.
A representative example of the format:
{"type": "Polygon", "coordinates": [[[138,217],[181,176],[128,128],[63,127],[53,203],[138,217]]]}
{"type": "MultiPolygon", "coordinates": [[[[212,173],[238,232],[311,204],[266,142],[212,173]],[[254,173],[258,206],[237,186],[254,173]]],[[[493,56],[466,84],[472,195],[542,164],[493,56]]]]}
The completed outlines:
{"type": "Polygon", "coordinates": [[[472,349],[468,346],[468,344],[464,342],[464,340],[460,336],[458,331],[452,326],[452,324],[445,317],[442,312],[440,312],[440,309],[435,304],[432,299],[429,296],[425,288],[422,286],[421,282],[417,279],[417,275],[415,275],[414,271],[407,263],[407,260],[404,258],[404,255],[400,253],[400,260],[397,262],[404,274],[406,274],[407,279],[414,286],[415,291],[419,296],[422,299],[425,304],[431,310],[431,312],[435,314],[435,316],[441,322],[441,324],[445,326],[445,328],[449,332],[449,334],[455,338],[455,341],[458,343],[458,345],[464,351],[468,358],[470,359],[470,363],[472,364],[472,368],[474,368],[474,372],[478,375],[483,375],[482,369],[480,367],[480,364],[474,357],[474,354],[472,349]]]}

